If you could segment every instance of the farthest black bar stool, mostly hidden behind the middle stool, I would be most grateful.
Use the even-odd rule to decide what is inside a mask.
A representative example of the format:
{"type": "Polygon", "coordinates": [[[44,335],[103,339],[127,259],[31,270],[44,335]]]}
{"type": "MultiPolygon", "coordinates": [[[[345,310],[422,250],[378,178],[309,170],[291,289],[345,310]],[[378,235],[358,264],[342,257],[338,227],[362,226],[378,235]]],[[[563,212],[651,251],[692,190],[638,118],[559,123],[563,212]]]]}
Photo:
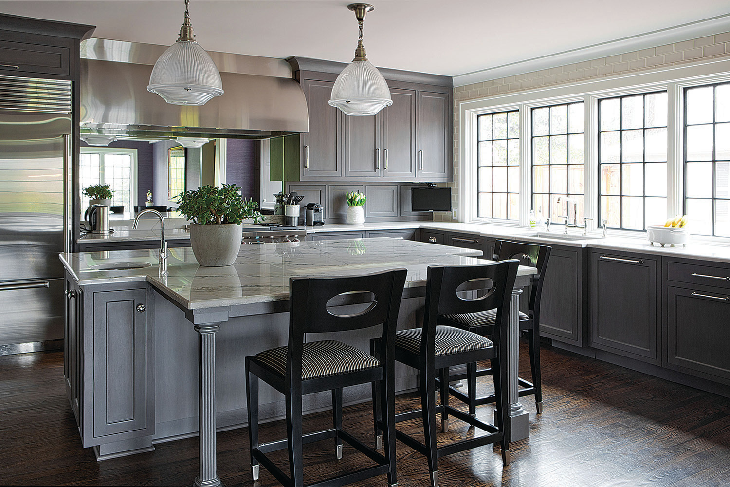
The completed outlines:
{"type": "MultiPolygon", "coordinates": [[[[499,261],[508,258],[516,258],[521,264],[537,267],[537,274],[531,277],[531,293],[529,313],[520,311],[520,331],[526,331],[527,344],[530,355],[530,369],[532,382],[519,378],[521,396],[535,396],[537,413],[542,413],[542,377],[540,375],[540,299],[542,296],[542,283],[545,277],[545,270],[548,269],[551,248],[547,245],[525,244],[511,242],[509,240],[497,240],[494,246],[493,260],[499,261]]],[[[457,328],[474,331],[478,334],[491,336],[494,333],[494,320],[496,310],[482,312],[459,312],[458,314],[439,316],[439,325],[455,326],[457,328]]],[[[472,363],[466,366],[466,375],[452,375],[449,380],[463,380],[466,378],[468,385],[467,394],[456,388],[450,387],[450,393],[457,399],[469,404],[469,413],[475,414],[476,407],[481,404],[488,404],[495,401],[495,396],[477,397],[477,377],[490,375],[491,369],[477,370],[477,364],[472,363]]]]}

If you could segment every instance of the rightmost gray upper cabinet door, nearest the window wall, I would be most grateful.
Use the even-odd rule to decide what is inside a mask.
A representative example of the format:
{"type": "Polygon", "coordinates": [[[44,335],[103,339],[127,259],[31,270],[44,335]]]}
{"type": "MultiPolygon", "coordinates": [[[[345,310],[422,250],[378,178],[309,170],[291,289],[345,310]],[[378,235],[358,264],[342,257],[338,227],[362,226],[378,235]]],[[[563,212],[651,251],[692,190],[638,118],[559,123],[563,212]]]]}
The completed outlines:
{"type": "Polygon", "coordinates": [[[453,167],[452,129],[449,123],[451,96],[418,92],[418,179],[448,181],[453,167]]]}

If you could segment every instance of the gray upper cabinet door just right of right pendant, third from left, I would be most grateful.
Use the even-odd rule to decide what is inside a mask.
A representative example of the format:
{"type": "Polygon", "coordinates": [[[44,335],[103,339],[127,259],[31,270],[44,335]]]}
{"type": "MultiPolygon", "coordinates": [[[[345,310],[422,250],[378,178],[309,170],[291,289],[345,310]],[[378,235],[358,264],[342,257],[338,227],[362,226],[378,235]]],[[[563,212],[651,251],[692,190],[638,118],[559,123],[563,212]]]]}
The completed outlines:
{"type": "Polygon", "coordinates": [[[415,177],[415,91],[391,88],[393,104],[383,109],[383,177],[415,177]]]}

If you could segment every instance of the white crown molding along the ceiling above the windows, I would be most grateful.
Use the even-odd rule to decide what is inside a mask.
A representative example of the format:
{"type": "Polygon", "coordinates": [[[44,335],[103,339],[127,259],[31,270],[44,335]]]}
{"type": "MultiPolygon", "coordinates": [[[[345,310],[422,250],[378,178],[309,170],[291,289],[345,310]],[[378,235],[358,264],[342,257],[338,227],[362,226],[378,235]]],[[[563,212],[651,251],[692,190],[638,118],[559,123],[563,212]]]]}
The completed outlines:
{"type": "Polygon", "coordinates": [[[717,17],[685,23],[680,26],[647,32],[646,34],[623,37],[615,41],[602,42],[600,44],[579,47],[578,49],[566,50],[561,53],[526,59],[525,61],[518,61],[516,63],[502,64],[502,66],[457,74],[453,77],[453,83],[455,87],[471,85],[472,83],[496,80],[514,74],[529,73],[539,71],[540,69],[606,58],[616,54],[631,53],[635,50],[683,42],[689,39],[721,34],[727,31],[730,31],[730,14],[718,15],[717,17]]]}

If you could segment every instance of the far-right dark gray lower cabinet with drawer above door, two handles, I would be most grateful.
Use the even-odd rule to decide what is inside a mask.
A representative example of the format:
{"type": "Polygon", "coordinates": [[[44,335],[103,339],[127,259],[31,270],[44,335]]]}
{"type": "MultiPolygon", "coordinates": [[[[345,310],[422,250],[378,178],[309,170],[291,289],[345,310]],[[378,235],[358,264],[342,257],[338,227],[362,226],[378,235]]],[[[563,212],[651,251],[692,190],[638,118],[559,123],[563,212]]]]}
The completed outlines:
{"type": "Polygon", "coordinates": [[[665,258],[664,367],[730,384],[730,267],[665,258]]]}

